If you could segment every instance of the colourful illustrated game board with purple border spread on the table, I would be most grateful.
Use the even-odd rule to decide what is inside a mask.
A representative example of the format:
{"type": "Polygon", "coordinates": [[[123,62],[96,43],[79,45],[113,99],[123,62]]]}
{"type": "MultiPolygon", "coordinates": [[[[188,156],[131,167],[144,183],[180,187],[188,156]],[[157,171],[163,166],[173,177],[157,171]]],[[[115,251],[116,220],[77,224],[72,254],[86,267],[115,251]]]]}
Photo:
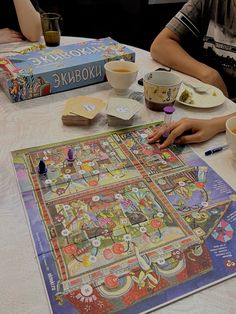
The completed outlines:
{"type": "Polygon", "coordinates": [[[189,146],[149,145],[154,126],[12,152],[53,313],[144,312],[235,276],[235,191],[189,146]]]}

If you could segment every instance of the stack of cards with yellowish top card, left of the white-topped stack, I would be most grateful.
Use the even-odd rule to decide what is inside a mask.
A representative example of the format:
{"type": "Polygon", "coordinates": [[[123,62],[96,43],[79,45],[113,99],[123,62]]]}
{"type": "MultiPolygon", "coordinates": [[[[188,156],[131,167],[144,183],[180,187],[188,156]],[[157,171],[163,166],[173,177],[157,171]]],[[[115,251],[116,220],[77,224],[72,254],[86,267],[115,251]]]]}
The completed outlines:
{"type": "Polygon", "coordinates": [[[87,96],[69,98],[65,103],[62,122],[65,125],[90,125],[105,106],[106,103],[98,98],[87,96]]]}

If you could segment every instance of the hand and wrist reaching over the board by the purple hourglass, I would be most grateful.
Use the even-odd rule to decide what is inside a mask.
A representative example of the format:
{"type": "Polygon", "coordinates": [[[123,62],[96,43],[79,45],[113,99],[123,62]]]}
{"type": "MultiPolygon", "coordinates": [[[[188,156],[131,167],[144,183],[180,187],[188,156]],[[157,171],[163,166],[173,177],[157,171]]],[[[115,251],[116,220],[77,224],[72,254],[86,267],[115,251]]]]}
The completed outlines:
{"type": "MultiPolygon", "coordinates": [[[[200,143],[216,134],[224,132],[226,120],[236,116],[236,112],[212,119],[183,118],[170,124],[169,136],[160,145],[160,149],[176,144],[200,143]]],[[[166,132],[165,127],[156,128],[148,137],[149,144],[159,141],[166,132]]]]}

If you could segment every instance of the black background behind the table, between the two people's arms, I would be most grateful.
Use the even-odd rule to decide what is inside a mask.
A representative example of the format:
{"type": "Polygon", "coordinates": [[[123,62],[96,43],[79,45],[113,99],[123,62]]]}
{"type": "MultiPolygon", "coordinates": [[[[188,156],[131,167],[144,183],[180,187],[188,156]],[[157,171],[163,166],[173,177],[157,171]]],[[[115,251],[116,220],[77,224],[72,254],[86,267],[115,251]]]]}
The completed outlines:
{"type": "Polygon", "coordinates": [[[145,50],[184,0],[38,0],[45,12],[63,17],[62,35],[110,36],[145,50]]]}

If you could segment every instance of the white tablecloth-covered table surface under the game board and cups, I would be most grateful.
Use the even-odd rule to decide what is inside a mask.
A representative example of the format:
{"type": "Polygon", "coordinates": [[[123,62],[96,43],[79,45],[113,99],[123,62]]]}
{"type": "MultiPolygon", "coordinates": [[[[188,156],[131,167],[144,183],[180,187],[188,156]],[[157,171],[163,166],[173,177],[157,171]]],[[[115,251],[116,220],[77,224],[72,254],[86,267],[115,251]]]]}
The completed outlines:
{"type": "MultiPolygon", "coordinates": [[[[73,37],[62,38],[62,43],[79,42],[73,37]]],[[[3,45],[0,45],[2,51],[3,45]]],[[[140,67],[138,78],[158,67],[150,53],[130,47],[136,52],[140,67]]],[[[189,78],[183,74],[184,79],[189,78]]],[[[137,83],[132,90],[143,91],[137,83]]],[[[68,127],[61,121],[66,99],[77,95],[90,95],[107,100],[113,92],[107,82],[53,94],[19,103],[11,103],[0,90],[0,278],[1,314],[47,314],[50,313],[43,280],[31,241],[24,207],[17,186],[11,160],[11,151],[74,139],[88,134],[113,130],[106,122],[105,114],[91,127],[68,127]]],[[[180,117],[210,118],[235,111],[235,104],[226,99],[221,106],[211,109],[196,109],[177,104],[175,119],[180,117]]],[[[162,113],[143,109],[137,114],[134,124],[162,120],[162,113]]],[[[231,151],[225,150],[209,157],[204,151],[209,147],[225,144],[224,134],[203,143],[192,145],[199,156],[236,189],[236,162],[231,151]]],[[[235,313],[236,278],[221,282],[195,293],[178,302],[156,310],[155,313],[235,313]]]]}

